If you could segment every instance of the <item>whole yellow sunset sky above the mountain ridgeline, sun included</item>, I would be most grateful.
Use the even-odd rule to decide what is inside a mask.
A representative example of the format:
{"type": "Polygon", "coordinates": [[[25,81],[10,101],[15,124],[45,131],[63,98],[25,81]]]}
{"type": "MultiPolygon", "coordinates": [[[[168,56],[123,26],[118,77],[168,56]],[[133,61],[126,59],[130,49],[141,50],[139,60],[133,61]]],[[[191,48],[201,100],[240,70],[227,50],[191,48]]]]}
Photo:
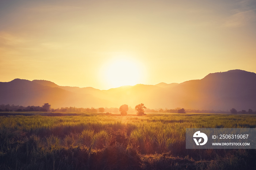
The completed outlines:
{"type": "Polygon", "coordinates": [[[255,63],[255,0],[0,0],[1,82],[109,89],[255,63]]]}

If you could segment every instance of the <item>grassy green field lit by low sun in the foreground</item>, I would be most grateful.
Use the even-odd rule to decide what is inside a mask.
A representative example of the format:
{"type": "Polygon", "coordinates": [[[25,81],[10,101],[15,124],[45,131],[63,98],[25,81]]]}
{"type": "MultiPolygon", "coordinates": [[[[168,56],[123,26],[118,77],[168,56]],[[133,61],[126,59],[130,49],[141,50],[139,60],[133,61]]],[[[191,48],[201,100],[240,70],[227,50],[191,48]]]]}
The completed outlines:
{"type": "Polygon", "coordinates": [[[0,113],[0,169],[256,169],[256,150],[185,149],[186,128],[256,128],[256,115],[0,113]]]}

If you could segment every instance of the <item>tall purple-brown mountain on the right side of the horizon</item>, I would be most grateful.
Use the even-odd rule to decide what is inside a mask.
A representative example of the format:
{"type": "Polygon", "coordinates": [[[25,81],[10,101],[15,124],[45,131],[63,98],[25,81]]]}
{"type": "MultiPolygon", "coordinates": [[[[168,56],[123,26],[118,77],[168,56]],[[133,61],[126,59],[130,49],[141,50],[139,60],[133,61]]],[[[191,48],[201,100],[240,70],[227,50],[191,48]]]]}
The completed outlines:
{"type": "Polygon", "coordinates": [[[176,104],[200,109],[256,109],[256,74],[230,70],[186,81],[172,89],[176,104]]]}

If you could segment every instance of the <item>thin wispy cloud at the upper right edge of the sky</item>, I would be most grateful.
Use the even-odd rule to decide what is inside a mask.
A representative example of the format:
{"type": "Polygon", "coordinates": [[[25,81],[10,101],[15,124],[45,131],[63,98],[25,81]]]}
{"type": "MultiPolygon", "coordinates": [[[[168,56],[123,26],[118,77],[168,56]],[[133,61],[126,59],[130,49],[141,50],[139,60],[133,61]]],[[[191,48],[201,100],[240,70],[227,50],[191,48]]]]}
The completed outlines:
{"type": "Polygon", "coordinates": [[[253,10],[237,12],[226,18],[224,27],[243,27],[256,21],[256,13],[253,10]]]}

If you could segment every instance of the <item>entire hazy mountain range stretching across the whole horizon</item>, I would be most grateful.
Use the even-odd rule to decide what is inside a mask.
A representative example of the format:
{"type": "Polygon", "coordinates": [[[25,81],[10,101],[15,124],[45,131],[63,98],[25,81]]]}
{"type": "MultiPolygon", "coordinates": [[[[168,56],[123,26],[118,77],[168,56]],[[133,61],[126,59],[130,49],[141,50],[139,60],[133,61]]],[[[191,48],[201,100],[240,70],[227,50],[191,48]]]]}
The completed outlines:
{"type": "Polygon", "coordinates": [[[144,103],[148,108],[214,110],[256,110],[256,74],[243,70],[210,73],[201,80],[157,85],[138,84],[109,90],[92,87],[59,86],[46,80],[0,82],[0,104],[59,107],[132,108],[144,103]]]}

